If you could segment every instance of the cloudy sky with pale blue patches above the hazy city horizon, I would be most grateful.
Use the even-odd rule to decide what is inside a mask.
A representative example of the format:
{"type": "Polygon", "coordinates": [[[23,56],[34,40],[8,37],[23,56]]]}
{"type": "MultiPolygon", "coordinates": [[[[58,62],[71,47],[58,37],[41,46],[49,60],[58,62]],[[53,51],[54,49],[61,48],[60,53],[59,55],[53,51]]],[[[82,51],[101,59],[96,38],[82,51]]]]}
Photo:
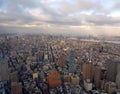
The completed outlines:
{"type": "Polygon", "coordinates": [[[0,32],[120,36],[120,0],[0,0],[0,32]]]}

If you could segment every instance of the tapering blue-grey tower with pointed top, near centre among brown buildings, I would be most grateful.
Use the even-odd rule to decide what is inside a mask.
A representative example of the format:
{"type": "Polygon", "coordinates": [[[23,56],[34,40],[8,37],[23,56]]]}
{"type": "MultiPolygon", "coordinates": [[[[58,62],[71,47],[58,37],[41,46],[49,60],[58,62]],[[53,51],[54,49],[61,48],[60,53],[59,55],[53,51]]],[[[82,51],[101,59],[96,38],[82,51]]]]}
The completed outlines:
{"type": "Polygon", "coordinates": [[[68,70],[69,72],[75,72],[76,70],[76,60],[75,60],[75,53],[73,50],[70,51],[70,54],[68,56],[68,70]]]}

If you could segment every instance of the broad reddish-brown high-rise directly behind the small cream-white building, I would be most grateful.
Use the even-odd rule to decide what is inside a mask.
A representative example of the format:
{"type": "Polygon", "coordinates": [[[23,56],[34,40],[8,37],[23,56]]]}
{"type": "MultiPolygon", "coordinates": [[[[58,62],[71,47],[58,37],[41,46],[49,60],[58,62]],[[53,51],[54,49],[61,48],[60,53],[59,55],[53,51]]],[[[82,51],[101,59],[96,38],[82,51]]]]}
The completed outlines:
{"type": "Polygon", "coordinates": [[[92,63],[83,63],[82,66],[83,80],[90,79],[93,81],[93,64],[92,63]]]}

